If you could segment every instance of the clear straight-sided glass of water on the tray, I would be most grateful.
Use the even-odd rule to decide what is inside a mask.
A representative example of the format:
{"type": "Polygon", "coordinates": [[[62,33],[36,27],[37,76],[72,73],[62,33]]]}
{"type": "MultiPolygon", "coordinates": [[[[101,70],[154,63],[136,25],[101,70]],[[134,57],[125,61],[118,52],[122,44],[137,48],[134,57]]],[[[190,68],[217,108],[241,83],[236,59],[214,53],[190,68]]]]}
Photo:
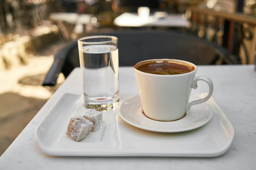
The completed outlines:
{"type": "Polygon", "coordinates": [[[103,111],[119,105],[117,39],[88,36],[77,40],[87,108],[103,111]]]}

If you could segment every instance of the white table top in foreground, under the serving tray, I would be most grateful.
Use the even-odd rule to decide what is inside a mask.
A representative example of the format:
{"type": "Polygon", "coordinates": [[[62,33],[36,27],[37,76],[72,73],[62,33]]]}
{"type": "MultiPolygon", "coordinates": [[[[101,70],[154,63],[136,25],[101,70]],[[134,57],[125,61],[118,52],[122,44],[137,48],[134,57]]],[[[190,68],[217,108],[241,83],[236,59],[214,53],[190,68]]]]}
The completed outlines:
{"type": "MultiPolygon", "coordinates": [[[[256,72],[254,65],[198,66],[197,76],[201,75],[213,80],[213,97],[236,131],[231,148],[220,157],[93,158],[45,155],[35,140],[35,129],[63,93],[82,94],[80,69],[76,68],[0,157],[0,169],[255,169],[256,72]]],[[[132,67],[120,67],[119,82],[121,94],[138,93],[132,67]]],[[[192,92],[208,92],[208,86],[204,82],[198,82],[197,90],[192,90],[192,92]]]]}

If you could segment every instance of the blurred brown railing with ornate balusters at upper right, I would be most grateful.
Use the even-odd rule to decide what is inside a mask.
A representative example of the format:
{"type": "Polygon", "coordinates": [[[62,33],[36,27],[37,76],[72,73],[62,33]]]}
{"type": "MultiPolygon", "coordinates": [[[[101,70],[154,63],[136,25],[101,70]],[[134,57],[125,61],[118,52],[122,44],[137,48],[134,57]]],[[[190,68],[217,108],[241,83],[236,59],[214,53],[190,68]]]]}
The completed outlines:
{"type": "Polygon", "coordinates": [[[243,13],[217,12],[212,9],[188,8],[190,13],[190,33],[207,38],[207,29],[213,30],[212,41],[227,48],[238,59],[243,49],[245,64],[254,59],[256,48],[256,16],[243,13]],[[221,39],[221,40],[219,40],[221,39]],[[251,41],[251,48],[245,45],[251,41]]]}

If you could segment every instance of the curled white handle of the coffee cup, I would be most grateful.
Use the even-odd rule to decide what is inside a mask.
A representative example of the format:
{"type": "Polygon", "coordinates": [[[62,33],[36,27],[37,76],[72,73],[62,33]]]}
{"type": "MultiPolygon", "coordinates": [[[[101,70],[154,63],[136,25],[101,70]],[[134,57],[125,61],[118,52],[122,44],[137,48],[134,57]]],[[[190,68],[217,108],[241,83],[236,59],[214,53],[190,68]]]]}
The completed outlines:
{"type": "Polygon", "coordinates": [[[193,105],[197,105],[197,104],[206,102],[207,100],[210,99],[210,97],[211,97],[212,94],[213,94],[213,82],[212,82],[212,80],[211,80],[210,78],[208,78],[208,77],[206,77],[206,76],[198,76],[198,77],[194,78],[194,80],[193,80],[193,82],[192,82],[192,88],[193,88],[193,89],[196,89],[196,88],[197,88],[197,81],[198,81],[198,80],[203,80],[203,81],[205,81],[205,82],[208,84],[208,86],[209,86],[209,93],[208,93],[208,95],[207,95],[205,98],[203,98],[203,99],[199,99],[199,100],[196,100],[196,101],[193,101],[193,102],[188,103],[187,108],[186,108],[187,111],[189,111],[189,110],[190,110],[190,107],[193,106],[193,105]]]}

